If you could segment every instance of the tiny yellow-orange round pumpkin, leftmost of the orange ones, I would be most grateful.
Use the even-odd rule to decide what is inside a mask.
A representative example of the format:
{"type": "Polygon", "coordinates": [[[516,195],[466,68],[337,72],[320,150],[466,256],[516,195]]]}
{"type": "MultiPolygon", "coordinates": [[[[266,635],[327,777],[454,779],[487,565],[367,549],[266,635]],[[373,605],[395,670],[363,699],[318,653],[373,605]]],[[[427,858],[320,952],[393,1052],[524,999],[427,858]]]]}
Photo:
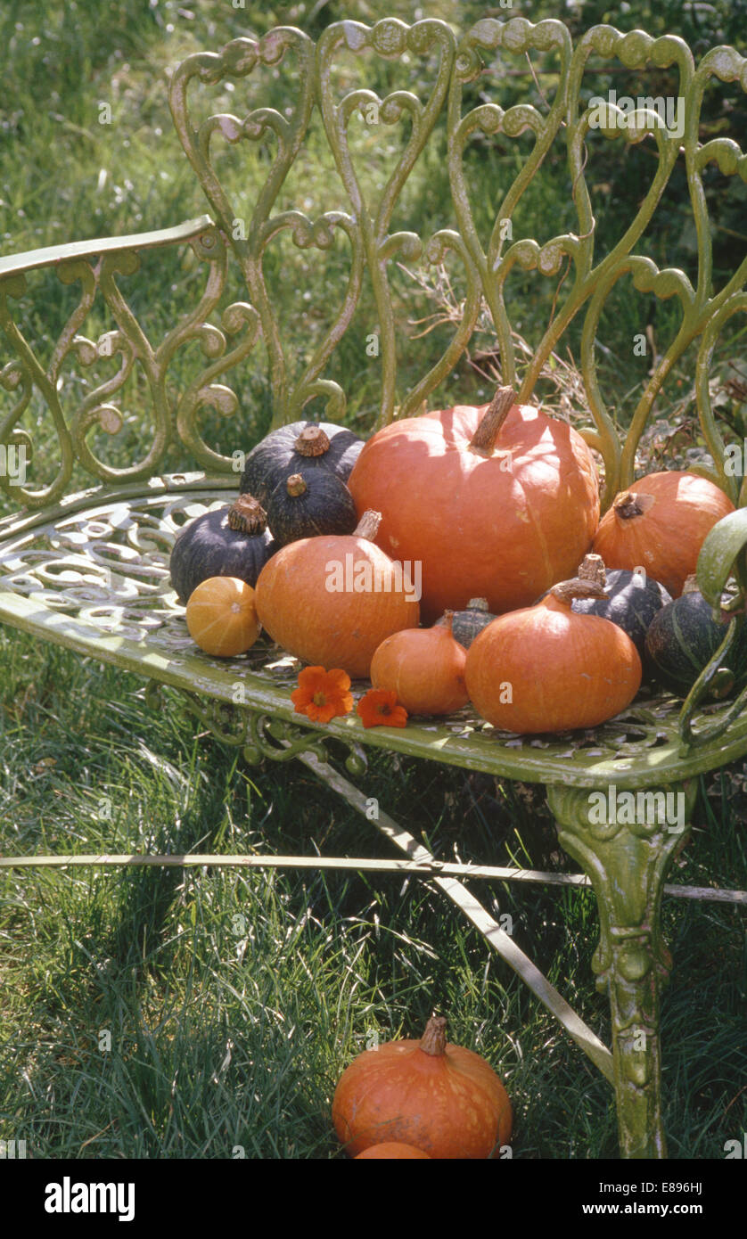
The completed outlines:
{"type": "Polygon", "coordinates": [[[254,590],[235,576],[201,581],[187,602],[187,628],[206,654],[245,654],[261,631],[254,590]]]}

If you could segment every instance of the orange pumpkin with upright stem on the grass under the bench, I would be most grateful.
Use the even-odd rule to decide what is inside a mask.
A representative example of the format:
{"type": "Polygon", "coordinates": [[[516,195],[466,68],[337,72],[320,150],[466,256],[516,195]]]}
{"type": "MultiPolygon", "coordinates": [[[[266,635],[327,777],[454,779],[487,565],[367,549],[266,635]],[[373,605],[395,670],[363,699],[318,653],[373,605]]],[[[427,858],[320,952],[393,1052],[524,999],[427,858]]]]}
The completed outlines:
{"type": "Polygon", "coordinates": [[[347,1154],[396,1141],[429,1157],[498,1157],[510,1140],[510,1101],[496,1072],[472,1049],[446,1041],[446,1020],[429,1020],[420,1041],[365,1049],[339,1078],[332,1121],[347,1154]]]}

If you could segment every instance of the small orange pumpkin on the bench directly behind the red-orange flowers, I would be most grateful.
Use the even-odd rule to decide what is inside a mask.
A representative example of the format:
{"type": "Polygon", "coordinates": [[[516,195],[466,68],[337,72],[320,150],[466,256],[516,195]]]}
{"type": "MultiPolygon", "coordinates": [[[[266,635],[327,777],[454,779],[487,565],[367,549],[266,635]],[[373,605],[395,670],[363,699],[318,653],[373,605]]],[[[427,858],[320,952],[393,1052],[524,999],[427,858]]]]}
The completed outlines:
{"type": "Polygon", "coordinates": [[[451,634],[453,612],[437,628],[405,628],[387,637],[370,663],[374,689],[396,693],[408,714],[450,714],[470,700],[467,652],[451,634]]]}

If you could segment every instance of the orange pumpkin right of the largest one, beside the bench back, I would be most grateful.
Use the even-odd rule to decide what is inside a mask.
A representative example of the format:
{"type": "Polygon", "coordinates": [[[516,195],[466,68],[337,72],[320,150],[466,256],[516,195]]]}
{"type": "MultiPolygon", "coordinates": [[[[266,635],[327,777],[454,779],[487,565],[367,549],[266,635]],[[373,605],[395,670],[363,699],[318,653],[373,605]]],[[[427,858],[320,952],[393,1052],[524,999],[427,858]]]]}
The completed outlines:
{"type": "Polygon", "coordinates": [[[607,567],[644,567],[679,597],[706,535],[733,510],[731,499],[705,477],[678,470],[649,473],[614,497],[593,550],[607,567]]]}

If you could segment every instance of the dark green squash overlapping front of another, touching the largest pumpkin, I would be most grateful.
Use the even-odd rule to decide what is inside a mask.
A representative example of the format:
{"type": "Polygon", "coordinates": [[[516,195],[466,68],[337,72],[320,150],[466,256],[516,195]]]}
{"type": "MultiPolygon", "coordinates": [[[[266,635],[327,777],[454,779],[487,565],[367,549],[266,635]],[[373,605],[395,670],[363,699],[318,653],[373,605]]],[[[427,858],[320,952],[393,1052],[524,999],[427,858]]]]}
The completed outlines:
{"type": "Polygon", "coordinates": [[[352,534],[358,524],[353,496],[330,470],[304,468],[279,482],[268,503],[268,524],[279,546],[317,534],[352,534]]]}

